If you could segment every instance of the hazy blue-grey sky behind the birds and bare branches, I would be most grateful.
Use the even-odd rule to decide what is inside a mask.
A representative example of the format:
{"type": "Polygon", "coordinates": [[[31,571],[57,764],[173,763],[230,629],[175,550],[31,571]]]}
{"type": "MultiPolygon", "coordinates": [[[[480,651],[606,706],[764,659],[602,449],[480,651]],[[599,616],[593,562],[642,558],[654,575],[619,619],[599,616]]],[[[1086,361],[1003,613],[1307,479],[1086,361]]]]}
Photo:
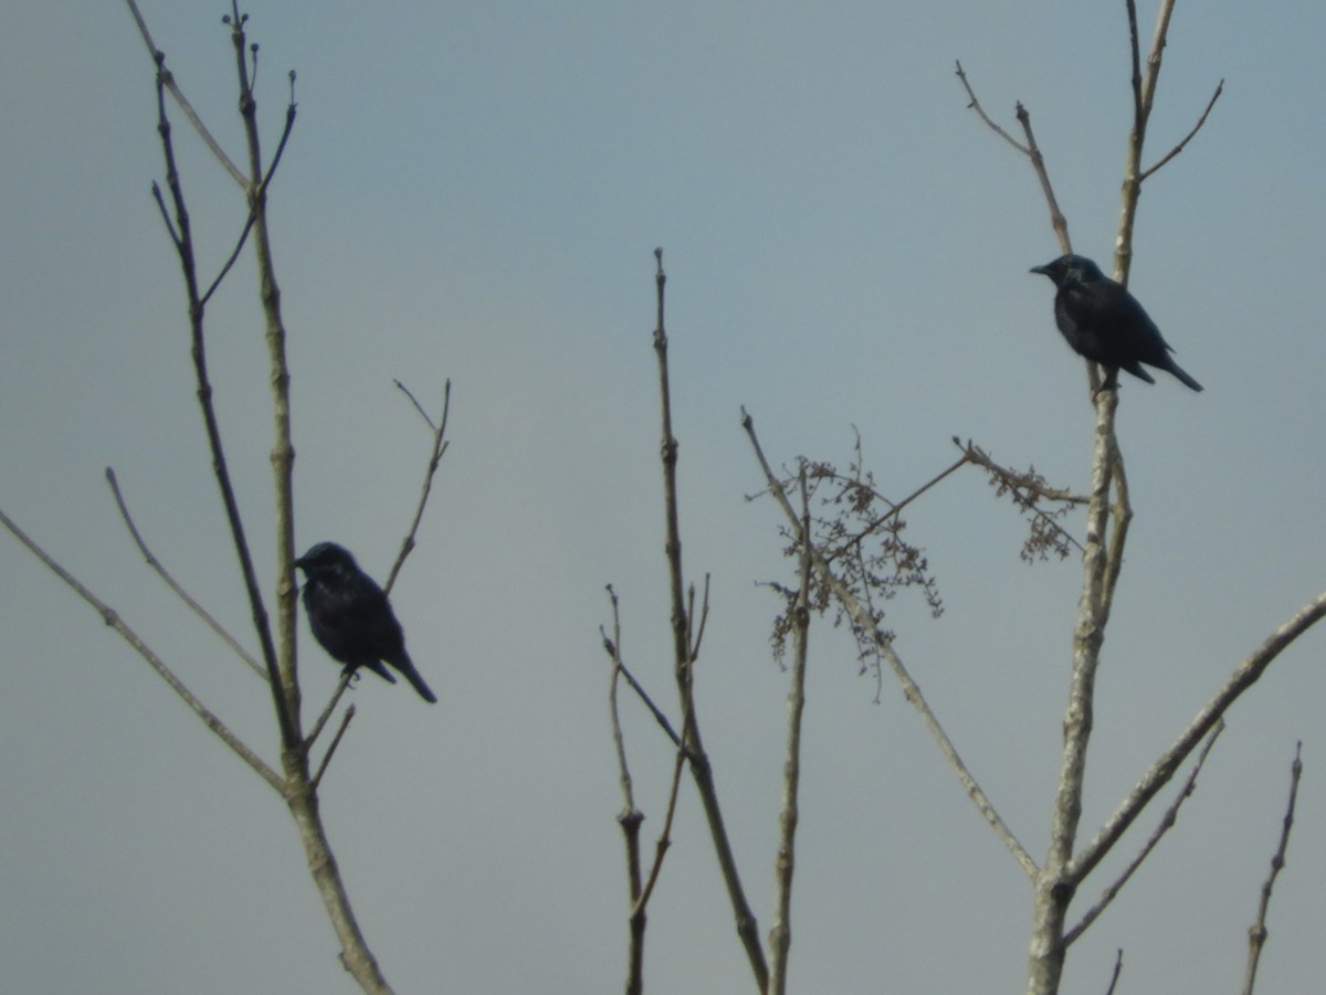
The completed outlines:
{"type": "MultiPolygon", "coordinates": [[[[1140,12],[1151,34],[1154,8],[1140,12]]],[[[146,0],[186,93],[243,162],[219,4],[146,0]]],[[[1057,254],[1025,159],[967,110],[1033,114],[1075,248],[1106,268],[1131,114],[1122,3],[257,5],[260,115],[298,122],[271,220],[290,334],[297,542],[382,578],[434,407],[452,448],[394,592],[424,706],[371,674],[324,783],[359,921],[398,991],[621,991],[626,876],[603,586],[626,656],[675,710],[659,488],[652,249],[664,246],[686,567],[712,572],[699,709],[761,934],[788,677],[780,517],[737,424],[778,462],[846,464],[853,425],[900,497],[972,437],[1086,486],[1093,413],[1054,331],[1057,254]]],[[[1181,3],[1148,162],[1219,79],[1207,127],[1152,178],[1132,289],[1195,395],[1127,379],[1136,518],[1099,678],[1089,836],[1265,635],[1322,587],[1321,237],[1326,8],[1181,3]]],[[[158,555],[249,645],[194,399],[178,265],[150,196],[152,66],[119,4],[11,4],[0,33],[0,506],[276,762],[265,689],[142,564],[158,555]]],[[[204,273],[240,195],[171,107],[204,273]]],[[[210,309],[216,401],[268,590],[271,415],[245,253],[210,309]]],[[[900,599],[898,649],[1040,859],[1058,768],[1075,559],[1028,567],[975,473],[918,503],[947,613],[900,599]]],[[[1078,530],[1081,521],[1075,522],[1078,530]]],[[[353,991],[271,790],[118,637],[0,537],[0,988],[353,991]]],[[[308,711],[335,666],[300,621],[308,711]]],[[[1306,770],[1260,991],[1321,983],[1322,635],[1232,713],[1154,860],[1070,951],[1065,991],[1231,990],[1306,770]]],[[[1029,886],[896,686],[812,632],[792,990],[1024,986],[1029,886]]],[[[623,698],[646,840],[671,753],[623,698]]],[[[1172,790],[1166,792],[1166,800],[1172,790]]],[[[1155,813],[1079,896],[1087,908],[1155,813]]],[[[690,783],[650,909],[654,992],[749,991],[690,783]]]]}

